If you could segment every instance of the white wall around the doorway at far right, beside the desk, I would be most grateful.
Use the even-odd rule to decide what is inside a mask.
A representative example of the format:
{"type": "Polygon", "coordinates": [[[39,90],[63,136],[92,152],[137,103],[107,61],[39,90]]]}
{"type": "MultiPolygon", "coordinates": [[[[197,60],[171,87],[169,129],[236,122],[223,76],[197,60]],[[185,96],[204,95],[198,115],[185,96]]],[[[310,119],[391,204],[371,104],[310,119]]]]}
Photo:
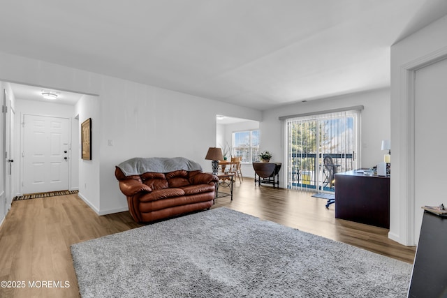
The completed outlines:
{"type": "MultiPolygon", "coordinates": [[[[447,15],[391,47],[391,189],[388,237],[415,245],[413,74],[447,57],[447,15]]],[[[437,106],[432,107],[436,109],[437,106]]],[[[423,120],[423,119],[421,119],[423,120]]],[[[435,121],[435,119],[426,119],[435,121]]],[[[433,137],[439,137],[434,135],[433,137]]],[[[420,207],[416,207],[420,208],[420,207]]],[[[422,212],[422,211],[421,211],[422,212]]]]}

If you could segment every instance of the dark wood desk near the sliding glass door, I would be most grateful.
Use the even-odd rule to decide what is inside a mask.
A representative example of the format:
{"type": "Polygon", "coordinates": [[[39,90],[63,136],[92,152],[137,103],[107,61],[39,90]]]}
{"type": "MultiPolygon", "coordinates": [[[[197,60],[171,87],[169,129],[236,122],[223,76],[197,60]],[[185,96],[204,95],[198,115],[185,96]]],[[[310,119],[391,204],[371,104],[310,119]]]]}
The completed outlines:
{"type": "Polygon", "coordinates": [[[335,217],[390,228],[390,178],[335,174],[335,217]]]}

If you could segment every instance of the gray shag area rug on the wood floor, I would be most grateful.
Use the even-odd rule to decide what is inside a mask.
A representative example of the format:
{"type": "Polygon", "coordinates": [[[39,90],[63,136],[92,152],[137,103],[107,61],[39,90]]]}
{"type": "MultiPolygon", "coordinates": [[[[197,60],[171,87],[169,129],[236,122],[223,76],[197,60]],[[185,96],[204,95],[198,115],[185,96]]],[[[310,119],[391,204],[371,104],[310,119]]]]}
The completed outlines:
{"type": "Polygon", "coordinates": [[[71,246],[82,297],[406,297],[411,265],[226,208],[71,246]]]}

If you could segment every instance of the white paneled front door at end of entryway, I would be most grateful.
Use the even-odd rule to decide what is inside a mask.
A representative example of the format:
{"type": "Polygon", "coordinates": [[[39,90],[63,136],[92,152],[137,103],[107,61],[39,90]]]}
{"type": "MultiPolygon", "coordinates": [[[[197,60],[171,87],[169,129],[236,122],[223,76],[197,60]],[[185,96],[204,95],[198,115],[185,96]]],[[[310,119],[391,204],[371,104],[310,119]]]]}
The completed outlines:
{"type": "Polygon", "coordinates": [[[70,121],[24,115],[22,193],[68,190],[70,121]]]}

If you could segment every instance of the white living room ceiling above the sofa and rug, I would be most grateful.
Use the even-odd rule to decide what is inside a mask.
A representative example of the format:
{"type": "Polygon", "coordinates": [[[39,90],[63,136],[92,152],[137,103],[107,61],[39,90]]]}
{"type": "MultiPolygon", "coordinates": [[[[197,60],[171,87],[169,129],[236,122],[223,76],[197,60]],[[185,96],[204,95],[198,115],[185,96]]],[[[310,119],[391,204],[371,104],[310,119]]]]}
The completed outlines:
{"type": "Polygon", "coordinates": [[[1,52],[258,110],[388,87],[390,45],[447,15],[446,0],[3,0],[0,7],[1,52]]]}

